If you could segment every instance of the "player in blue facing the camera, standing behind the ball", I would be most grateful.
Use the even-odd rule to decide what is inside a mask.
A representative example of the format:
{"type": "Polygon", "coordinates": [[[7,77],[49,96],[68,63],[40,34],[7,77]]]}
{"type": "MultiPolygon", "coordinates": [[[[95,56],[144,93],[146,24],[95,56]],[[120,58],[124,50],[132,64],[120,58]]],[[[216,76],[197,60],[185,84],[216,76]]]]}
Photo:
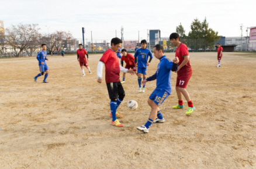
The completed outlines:
{"type": "Polygon", "coordinates": [[[143,75],[143,80],[145,80],[147,75],[147,66],[150,65],[150,62],[153,56],[151,51],[146,48],[147,47],[146,40],[142,40],[140,44],[141,44],[141,48],[138,49],[134,54],[134,58],[135,58],[134,61],[136,63],[136,66],[138,66],[137,75],[138,75],[138,83],[139,83],[139,92],[141,91],[145,92],[146,83],[143,84],[143,89],[141,90],[141,75],[143,75]],[[148,61],[148,56],[150,57],[149,61],[148,61]]]}

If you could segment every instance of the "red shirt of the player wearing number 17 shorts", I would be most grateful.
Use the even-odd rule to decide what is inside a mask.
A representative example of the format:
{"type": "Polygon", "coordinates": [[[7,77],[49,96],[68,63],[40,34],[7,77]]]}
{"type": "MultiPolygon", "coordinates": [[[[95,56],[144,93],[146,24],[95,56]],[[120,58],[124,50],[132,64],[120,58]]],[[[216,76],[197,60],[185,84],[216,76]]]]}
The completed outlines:
{"type": "MultiPolygon", "coordinates": [[[[185,44],[181,43],[177,48],[176,54],[175,54],[175,57],[179,58],[178,65],[181,65],[181,63],[184,61],[185,56],[188,56],[188,59],[189,59],[188,47],[186,47],[185,44]]],[[[190,72],[192,73],[192,68],[190,65],[190,61],[188,60],[186,65],[184,65],[181,69],[179,69],[178,75],[186,75],[186,73],[190,73],[190,72]]]]}

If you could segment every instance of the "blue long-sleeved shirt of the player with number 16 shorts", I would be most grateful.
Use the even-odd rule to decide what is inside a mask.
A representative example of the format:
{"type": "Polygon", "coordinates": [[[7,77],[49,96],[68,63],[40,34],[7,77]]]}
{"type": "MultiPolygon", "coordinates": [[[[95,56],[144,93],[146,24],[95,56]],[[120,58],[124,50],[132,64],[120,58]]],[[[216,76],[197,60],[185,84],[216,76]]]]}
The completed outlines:
{"type": "Polygon", "coordinates": [[[168,94],[171,94],[171,71],[178,71],[178,64],[174,64],[172,59],[164,55],[160,58],[157,72],[146,80],[152,81],[157,79],[157,87],[155,90],[165,90],[168,94]]]}

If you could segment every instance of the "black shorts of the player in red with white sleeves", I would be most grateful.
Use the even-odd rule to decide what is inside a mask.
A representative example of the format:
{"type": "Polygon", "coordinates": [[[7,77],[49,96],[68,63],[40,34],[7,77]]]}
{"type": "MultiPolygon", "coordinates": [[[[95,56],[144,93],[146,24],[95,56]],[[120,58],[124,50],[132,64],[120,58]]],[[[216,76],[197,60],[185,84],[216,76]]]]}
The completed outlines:
{"type": "Polygon", "coordinates": [[[107,83],[109,98],[118,98],[120,94],[124,94],[123,86],[121,82],[107,83]]]}

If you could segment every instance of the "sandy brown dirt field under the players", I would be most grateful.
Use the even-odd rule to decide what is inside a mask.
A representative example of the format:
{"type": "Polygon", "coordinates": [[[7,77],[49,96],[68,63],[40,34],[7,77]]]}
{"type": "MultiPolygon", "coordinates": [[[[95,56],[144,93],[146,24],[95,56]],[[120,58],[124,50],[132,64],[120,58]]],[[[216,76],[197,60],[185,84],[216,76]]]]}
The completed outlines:
{"type": "Polygon", "coordinates": [[[255,54],[224,52],[216,68],[216,52],[191,53],[187,90],[196,110],[186,116],[186,101],[183,110],[171,108],[172,73],[172,94],[160,107],[165,122],[148,134],[136,127],[148,119],[155,81],[138,93],[137,76],[126,76],[117,110],[124,127],[112,126],[106,84],[96,82],[100,57],[89,55],[85,77],[75,55],[49,57],[48,84],[33,81],[35,57],[0,59],[0,168],[256,168],[255,54]],[[136,111],[126,107],[132,99],[136,111]]]}

